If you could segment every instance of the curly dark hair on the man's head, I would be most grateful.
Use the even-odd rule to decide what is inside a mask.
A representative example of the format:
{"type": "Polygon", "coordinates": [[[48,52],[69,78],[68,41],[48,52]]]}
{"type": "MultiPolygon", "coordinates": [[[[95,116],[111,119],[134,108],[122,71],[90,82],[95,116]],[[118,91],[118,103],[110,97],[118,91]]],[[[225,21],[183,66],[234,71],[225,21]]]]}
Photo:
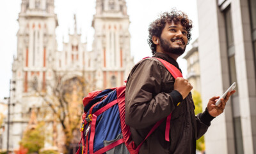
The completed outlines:
{"type": "Polygon", "coordinates": [[[184,26],[188,32],[187,37],[189,43],[191,40],[191,29],[193,25],[186,13],[172,9],[170,12],[161,13],[159,16],[160,17],[154,20],[154,22],[152,22],[148,27],[148,45],[150,46],[153,55],[156,53],[156,45],[153,43],[152,37],[156,36],[157,38],[160,38],[166,22],[174,22],[175,24],[180,22],[180,24],[184,26]]]}

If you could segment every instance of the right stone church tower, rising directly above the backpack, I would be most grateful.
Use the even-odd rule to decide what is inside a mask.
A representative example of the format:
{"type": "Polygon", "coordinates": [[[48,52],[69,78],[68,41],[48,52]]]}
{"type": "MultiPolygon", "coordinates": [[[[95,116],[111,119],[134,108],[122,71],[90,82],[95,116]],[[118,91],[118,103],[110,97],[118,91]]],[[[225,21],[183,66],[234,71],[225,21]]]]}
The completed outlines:
{"type": "Polygon", "coordinates": [[[129,16],[125,0],[97,0],[92,27],[96,55],[96,87],[124,85],[133,59],[130,55],[129,16]]]}

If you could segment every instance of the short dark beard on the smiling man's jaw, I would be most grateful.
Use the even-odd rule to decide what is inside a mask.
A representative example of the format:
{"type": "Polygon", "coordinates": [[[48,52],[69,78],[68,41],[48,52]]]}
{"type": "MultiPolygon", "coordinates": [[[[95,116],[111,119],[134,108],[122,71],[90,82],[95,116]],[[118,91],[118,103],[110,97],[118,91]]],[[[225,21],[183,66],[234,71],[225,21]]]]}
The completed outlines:
{"type": "Polygon", "coordinates": [[[160,46],[163,48],[164,52],[173,53],[175,55],[182,55],[185,50],[186,46],[182,48],[181,46],[174,48],[166,39],[159,38],[160,46]]]}

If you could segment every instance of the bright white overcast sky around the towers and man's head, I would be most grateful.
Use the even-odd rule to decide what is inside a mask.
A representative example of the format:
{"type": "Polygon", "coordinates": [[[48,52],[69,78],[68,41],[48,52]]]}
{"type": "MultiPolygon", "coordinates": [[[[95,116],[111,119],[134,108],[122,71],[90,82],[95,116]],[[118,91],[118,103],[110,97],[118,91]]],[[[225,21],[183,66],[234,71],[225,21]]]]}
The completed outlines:
{"type": "MultiPolygon", "coordinates": [[[[73,32],[74,14],[77,17],[77,30],[81,31],[82,41],[88,42],[88,50],[92,50],[94,29],[91,27],[95,14],[96,0],[55,0],[55,13],[59,26],[56,29],[58,50],[62,50],[62,39],[68,40],[68,29],[73,32]]],[[[126,0],[127,12],[131,25],[131,55],[134,62],[143,57],[151,56],[151,50],[147,44],[148,25],[155,20],[159,13],[177,8],[186,12],[193,20],[191,43],[198,37],[198,19],[196,0],[126,0]]],[[[12,77],[13,55],[17,52],[17,31],[21,0],[0,1],[0,100],[9,96],[9,83],[12,77]]],[[[189,45],[186,51],[189,50],[189,45]]],[[[186,60],[178,59],[180,67],[186,76],[186,60]]]]}

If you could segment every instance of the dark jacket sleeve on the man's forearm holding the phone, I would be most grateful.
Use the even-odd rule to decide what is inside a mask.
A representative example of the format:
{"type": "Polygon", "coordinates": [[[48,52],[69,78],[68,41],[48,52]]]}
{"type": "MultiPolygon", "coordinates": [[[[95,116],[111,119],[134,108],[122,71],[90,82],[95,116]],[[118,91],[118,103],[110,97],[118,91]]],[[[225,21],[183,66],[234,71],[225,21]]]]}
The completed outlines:
{"type": "Polygon", "coordinates": [[[196,139],[200,139],[200,137],[204,136],[213,119],[214,117],[209,115],[207,108],[205,109],[204,113],[199,113],[196,115],[196,139]]]}

